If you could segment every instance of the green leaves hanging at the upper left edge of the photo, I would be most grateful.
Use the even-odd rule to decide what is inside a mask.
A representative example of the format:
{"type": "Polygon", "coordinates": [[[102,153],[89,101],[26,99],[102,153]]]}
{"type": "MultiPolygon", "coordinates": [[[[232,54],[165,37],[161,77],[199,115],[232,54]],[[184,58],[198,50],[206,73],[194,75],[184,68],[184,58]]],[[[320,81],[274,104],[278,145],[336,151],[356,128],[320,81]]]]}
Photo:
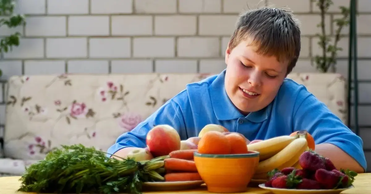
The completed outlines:
{"type": "MultiPolygon", "coordinates": [[[[0,29],[4,27],[15,28],[26,24],[24,16],[20,14],[14,14],[15,2],[14,0],[0,0],[0,29]]],[[[13,46],[19,46],[20,32],[14,32],[8,36],[3,36],[0,39],[0,58],[3,58],[3,54],[11,52],[13,46]]],[[[3,72],[0,69],[0,76],[3,72]]]]}

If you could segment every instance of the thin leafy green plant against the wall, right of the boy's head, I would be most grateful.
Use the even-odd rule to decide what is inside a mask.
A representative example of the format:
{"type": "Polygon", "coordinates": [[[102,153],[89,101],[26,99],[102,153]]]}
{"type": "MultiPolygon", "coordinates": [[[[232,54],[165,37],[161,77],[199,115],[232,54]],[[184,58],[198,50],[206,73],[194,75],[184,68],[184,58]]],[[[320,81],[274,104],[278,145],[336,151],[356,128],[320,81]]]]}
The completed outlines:
{"type": "Polygon", "coordinates": [[[339,50],[342,50],[341,47],[338,47],[338,42],[342,38],[341,37],[341,30],[348,26],[349,24],[349,8],[344,6],[339,6],[339,9],[341,10],[341,17],[338,19],[334,19],[333,22],[335,23],[335,34],[334,38],[331,38],[333,35],[326,34],[325,30],[325,16],[328,12],[328,9],[331,5],[334,3],[332,0],[312,0],[313,2],[316,2],[316,6],[320,10],[321,15],[321,22],[318,24],[318,27],[321,28],[321,33],[316,34],[316,37],[319,37],[318,45],[322,49],[321,55],[316,55],[313,57],[314,64],[316,69],[319,70],[319,72],[326,73],[336,72],[336,57],[337,52],[339,50]],[[333,43],[330,43],[333,42],[333,43]]]}

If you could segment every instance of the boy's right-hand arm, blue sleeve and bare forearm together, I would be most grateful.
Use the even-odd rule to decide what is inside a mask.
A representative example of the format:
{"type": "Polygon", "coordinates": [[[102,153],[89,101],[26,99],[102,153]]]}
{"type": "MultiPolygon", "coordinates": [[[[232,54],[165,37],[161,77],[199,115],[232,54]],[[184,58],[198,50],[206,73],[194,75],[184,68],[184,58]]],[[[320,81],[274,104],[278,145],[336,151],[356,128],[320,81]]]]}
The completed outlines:
{"type": "Polygon", "coordinates": [[[293,113],[294,131],[307,130],[316,142],[315,151],[336,168],[365,172],[363,141],[315,96],[302,89],[293,113]]]}

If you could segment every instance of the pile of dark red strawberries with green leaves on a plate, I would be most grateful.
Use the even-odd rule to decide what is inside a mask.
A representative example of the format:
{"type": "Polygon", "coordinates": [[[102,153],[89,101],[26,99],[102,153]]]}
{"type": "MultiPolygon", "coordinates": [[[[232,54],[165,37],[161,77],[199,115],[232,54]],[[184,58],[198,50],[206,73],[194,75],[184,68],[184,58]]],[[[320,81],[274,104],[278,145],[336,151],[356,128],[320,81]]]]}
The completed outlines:
{"type": "Polygon", "coordinates": [[[303,152],[299,165],[302,169],[289,167],[269,172],[265,186],[285,189],[338,189],[350,187],[357,176],[354,171],[336,170],[328,158],[312,150],[303,152]]]}

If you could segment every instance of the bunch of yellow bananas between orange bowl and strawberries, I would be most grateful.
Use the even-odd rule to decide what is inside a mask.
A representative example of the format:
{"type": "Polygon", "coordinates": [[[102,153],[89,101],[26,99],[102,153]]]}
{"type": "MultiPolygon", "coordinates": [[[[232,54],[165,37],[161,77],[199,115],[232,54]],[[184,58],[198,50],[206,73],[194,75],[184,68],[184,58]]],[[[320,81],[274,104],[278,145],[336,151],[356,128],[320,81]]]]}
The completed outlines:
{"type": "Polygon", "coordinates": [[[267,172],[277,168],[300,168],[299,157],[309,150],[305,136],[283,135],[247,145],[249,151],[258,151],[259,164],[253,179],[266,180],[267,172]]]}

